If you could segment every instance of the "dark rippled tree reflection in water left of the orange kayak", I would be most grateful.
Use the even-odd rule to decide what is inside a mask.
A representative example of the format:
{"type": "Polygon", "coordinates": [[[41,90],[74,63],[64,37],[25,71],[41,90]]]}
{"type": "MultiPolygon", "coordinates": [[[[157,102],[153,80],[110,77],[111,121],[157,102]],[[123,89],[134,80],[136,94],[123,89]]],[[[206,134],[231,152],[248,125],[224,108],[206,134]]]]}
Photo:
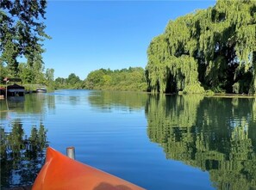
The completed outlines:
{"type": "Polygon", "coordinates": [[[1,127],[1,187],[29,185],[34,182],[45,159],[47,130],[32,126],[28,139],[20,120],[12,123],[11,132],[1,127]]]}

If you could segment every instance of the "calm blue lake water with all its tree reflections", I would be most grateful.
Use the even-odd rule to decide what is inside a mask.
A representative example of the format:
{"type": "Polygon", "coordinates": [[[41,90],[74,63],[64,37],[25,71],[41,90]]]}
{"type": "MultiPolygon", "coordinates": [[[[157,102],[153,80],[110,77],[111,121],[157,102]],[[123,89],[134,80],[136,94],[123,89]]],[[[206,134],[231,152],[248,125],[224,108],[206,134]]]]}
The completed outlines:
{"type": "Polygon", "coordinates": [[[47,145],[148,190],[256,189],[256,100],[57,90],[1,103],[1,187],[31,184],[47,145]]]}

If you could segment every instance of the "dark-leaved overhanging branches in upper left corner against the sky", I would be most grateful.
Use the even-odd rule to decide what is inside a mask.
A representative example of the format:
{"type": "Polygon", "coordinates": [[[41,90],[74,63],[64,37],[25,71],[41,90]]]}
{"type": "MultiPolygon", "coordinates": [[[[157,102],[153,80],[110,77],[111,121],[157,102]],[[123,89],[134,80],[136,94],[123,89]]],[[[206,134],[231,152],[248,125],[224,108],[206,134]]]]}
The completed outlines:
{"type": "Polygon", "coordinates": [[[8,77],[17,77],[19,56],[27,58],[34,70],[41,71],[44,52],[41,41],[50,38],[42,22],[46,19],[47,1],[3,0],[0,6],[0,64],[7,66],[8,77]]]}

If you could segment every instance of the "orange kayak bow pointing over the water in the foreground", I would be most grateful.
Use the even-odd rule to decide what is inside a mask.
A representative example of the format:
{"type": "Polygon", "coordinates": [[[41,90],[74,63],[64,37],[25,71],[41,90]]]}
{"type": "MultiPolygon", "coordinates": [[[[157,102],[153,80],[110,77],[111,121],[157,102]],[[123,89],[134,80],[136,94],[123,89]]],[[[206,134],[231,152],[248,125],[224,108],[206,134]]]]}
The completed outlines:
{"type": "Polygon", "coordinates": [[[128,181],[92,168],[47,148],[44,166],[37,175],[32,190],[143,190],[128,181]]]}

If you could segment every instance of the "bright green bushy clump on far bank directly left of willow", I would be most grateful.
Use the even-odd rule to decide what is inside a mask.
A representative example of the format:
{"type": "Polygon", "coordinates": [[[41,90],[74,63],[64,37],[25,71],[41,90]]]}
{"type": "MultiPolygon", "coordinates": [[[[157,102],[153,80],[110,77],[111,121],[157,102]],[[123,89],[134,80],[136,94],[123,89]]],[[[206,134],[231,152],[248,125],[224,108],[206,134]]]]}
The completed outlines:
{"type": "Polygon", "coordinates": [[[140,67],[122,70],[94,70],[86,77],[84,87],[85,89],[146,91],[144,72],[140,67]]]}

